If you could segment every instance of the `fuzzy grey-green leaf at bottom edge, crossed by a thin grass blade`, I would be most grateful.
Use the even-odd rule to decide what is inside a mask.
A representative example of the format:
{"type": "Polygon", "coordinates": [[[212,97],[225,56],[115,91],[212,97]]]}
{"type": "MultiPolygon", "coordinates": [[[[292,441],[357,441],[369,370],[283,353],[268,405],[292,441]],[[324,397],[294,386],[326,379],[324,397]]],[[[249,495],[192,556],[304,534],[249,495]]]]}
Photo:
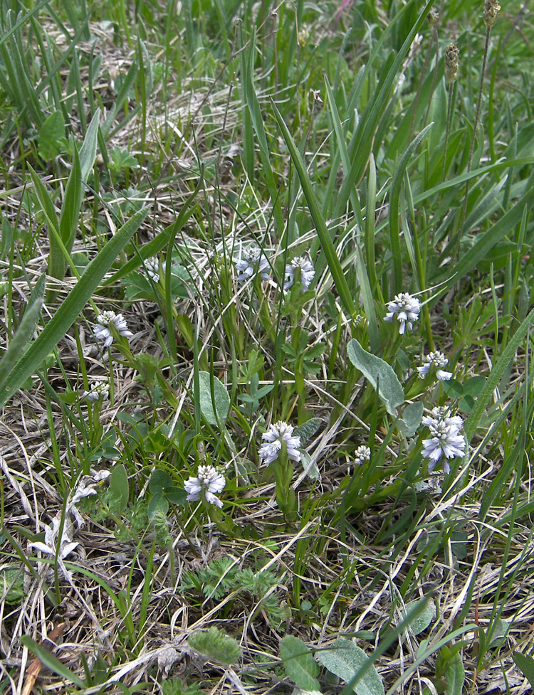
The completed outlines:
{"type": "MultiPolygon", "coordinates": [[[[330,673],[350,684],[368,659],[363,649],[343,637],[338,637],[328,649],[318,652],[317,658],[330,673]]],[[[384,695],[382,679],[374,666],[352,685],[352,689],[357,695],[384,695]]]]}

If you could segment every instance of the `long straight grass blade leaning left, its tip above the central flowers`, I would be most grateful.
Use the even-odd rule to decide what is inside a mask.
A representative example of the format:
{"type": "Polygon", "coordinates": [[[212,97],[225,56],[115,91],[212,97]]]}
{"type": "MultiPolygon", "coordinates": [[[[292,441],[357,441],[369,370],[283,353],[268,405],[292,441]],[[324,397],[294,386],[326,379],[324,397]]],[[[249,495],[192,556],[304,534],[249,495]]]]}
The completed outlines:
{"type": "Polygon", "coordinates": [[[286,122],[283,120],[281,113],[276,108],[274,102],[271,102],[273,106],[274,115],[278,121],[278,125],[282,131],[283,139],[286,141],[288,146],[289,154],[291,160],[293,161],[293,166],[297,170],[298,178],[300,179],[300,185],[302,186],[306,202],[308,203],[308,208],[310,210],[310,215],[315,225],[315,230],[320,241],[321,248],[325,254],[326,262],[332,273],[332,277],[337,288],[337,292],[340,294],[340,299],[347,313],[353,317],[356,313],[356,307],[350,295],[350,290],[347,285],[347,280],[345,280],[345,274],[341,267],[339,258],[337,258],[337,253],[335,253],[335,247],[333,241],[330,238],[330,233],[326,227],[326,223],[323,219],[323,215],[320,211],[317,198],[313,195],[313,187],[310,181],[298,147],[291,136],[286,122]]]}

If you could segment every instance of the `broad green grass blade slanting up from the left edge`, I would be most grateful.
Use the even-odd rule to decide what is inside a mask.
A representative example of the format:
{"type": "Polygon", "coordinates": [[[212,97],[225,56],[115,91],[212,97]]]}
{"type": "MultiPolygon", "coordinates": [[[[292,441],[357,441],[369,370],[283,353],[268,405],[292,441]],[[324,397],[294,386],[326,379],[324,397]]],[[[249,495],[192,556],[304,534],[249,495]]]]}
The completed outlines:
{"type": "Polygon", "coordinates": [[[103,250],[89,263],[74,289],[46,324],[38,339],[29,347],[23,359],[16,363],[5,383],[1,386],[0,408],[9,398],[14,396],[28,376],[31,376],[41,366],[46,356],[63,338],[93,295],[100,280],[108,272],[112,262],[139,229],[149,211],[150,208],[142,208],[135,213],[127,223],[117,230],[103,250]]]}

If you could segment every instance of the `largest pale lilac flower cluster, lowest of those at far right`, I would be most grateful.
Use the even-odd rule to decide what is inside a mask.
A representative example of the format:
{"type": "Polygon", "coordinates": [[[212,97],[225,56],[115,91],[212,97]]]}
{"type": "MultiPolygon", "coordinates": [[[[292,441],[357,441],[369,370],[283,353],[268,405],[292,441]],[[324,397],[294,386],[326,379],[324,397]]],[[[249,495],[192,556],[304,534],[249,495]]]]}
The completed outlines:
{"type": "MultiPolygon", "coordinates": [[[[459,415],[449,417],[446,408],[433,408],[431,415],[425,415],[422,419],[431,437],[423,440],[422,455],[429,459],[429,471],[434,470],[436,463],[445,455],[446,459],[453,459],[456,456],[462,457],[466,452],[466,438],[460,434],[464,428],[464,420],[459,415]]],[[[444,473],[449,473],[451,467],[448,460],[445,460],[441,467],[444,473]]]]}

